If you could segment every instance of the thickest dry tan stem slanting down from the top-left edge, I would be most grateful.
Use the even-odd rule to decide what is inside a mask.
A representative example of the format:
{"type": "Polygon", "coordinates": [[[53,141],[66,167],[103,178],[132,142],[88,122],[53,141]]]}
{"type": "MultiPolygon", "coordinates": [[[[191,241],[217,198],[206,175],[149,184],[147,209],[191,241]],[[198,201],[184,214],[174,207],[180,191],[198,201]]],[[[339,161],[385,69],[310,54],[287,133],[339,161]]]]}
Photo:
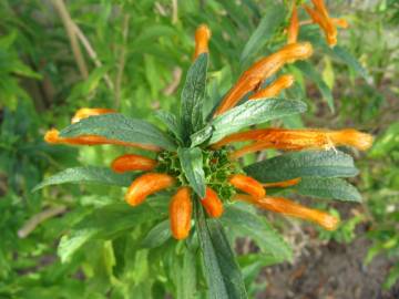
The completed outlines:
{"type": "Polygon", "coordinates": [[[66,34],[70,39],[70,43],[71,43],[71,49],[73,52],[73,56],[76,61],[79,71],[82,75],[83,79],[86,79],[89,76],[89,72],[88,72],[88,66],[85,64],[83,54],[81,52],[81,49],[79,47],[79,42],[76,39],[76,34],[75,34],[75,30],[73,27],[73,21],[71,19],[71,16],[68,12],[68,9],[65,7],[65,3],[62,0],[52,0],[52,3],[55,8],[55,10],[58,11],[58,13],[60,14],[60,18],[62,20],[62,23],[66,30],[66,34]]]}

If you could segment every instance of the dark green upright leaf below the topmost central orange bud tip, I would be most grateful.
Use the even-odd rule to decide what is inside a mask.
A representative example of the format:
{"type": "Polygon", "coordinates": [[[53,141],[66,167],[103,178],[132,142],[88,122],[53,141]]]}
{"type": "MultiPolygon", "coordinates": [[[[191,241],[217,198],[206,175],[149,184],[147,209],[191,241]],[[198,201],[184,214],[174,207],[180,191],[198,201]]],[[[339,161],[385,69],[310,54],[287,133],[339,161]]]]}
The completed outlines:
{"type": "Polygon", "coordinates": [[[182,91],[181,117],[185,138],[203,126],[203,101],[206,87],[208,55],[201,54],[188,70],[182,91]]]}

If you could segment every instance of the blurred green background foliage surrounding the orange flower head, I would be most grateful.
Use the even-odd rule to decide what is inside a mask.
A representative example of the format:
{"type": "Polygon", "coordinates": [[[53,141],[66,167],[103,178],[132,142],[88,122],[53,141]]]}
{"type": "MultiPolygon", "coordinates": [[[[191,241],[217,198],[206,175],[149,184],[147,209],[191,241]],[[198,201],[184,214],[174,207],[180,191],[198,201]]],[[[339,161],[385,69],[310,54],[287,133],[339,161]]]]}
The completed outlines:
{"type": "MultiPolygon", "coordinates": [[[[145,226],[133,229],[130,239],[93,240],[61,262],[57,255],[61,236],[94,208],[122,198],[122,190],[78,185],[40,193],[32,188],[68,166],[109,164],[121,150],[49,146],[42,136],[49,127],[65,126],[82,106],[114,107],[152,122],[157,122],[153,111],[175,110],[200,23],[213,31],[209,94],[219,96],[214,93],[226,91],[241,71],[272,50],[270,41],[279,39],[270,33],[248,45],[270,18],[273,2],[0,2],[0,298],[129,298],[132,293],[131,298],[175,293],[185,298],[176,281],[190,257],[178,250],[142,249],[150,229],[145,226]],[[178,258],[161,265],[162,255],[178,258]],[[123,259],[126,265],[121,265],[121,256],[129,257],[123,259]]],[[[339,45],[359,63],[339,53],[318,53],[305,76],[299,66],[293,66],[301,80],[291,92],[306,97],[310,111],[284,124],[350,126],[375,134],[372,150],[357,159],[361,176],[354,183],[364,204],[337,206],[335,213],[344,224],[328,234],[276,218],[276,227],[295,248],[295,258],[290,266],[267,271],[288,281],[284,267],[300,269],[296,265],[304,251],[321,250],[328,256],[323,251],[326,246],[350,248],[367,238],[361,241],[367,252],[357,258],[366,268],[376,258],[385,260],[375,274],[382,279],[372,291],[395,298],[399,296],[399,6],[393,0],[327,2],[332,14],[350,22],[350,29],[340,32],[339,45]],[[328,106],[332,99],[335,112],[328,106]]],[[[268,272],[260,271],[274,260],[253,262],[253,244],[245,238],[237,239],[236,249],[243,255],[239,261],[252,296],[263,298],[265,287],[278,289],[276,281],[270,286],[268,272]]],[[[357,287],[366,290],[367,281],[360,275],[357,287]]],[[[296,289],[301,291],[308,290],[296,289]]],[[[278,296],[289,298],[287,289],[273,298],[278,296]]],[[[361,291],[358,298],[365,298],[361,291]]]]}

